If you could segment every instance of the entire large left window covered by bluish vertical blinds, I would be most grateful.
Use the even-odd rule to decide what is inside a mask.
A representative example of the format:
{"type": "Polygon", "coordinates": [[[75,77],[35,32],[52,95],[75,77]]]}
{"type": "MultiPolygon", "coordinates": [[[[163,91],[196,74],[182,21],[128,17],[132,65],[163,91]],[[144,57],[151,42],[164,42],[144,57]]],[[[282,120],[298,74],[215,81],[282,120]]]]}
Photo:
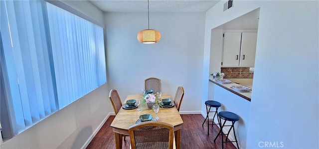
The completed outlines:
{"type": "Polygon", "coordinates": [[[3,138],[106,83],[103,28],[45,1],[0,0],[3,138]]]}

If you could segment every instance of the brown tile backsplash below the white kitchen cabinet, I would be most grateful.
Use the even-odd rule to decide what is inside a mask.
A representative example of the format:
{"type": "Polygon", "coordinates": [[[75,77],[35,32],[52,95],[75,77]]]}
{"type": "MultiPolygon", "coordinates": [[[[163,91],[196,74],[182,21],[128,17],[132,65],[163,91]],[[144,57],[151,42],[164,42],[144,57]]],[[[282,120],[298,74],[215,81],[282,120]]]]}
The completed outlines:
{"type": "Polygon", "coordinates": [[[224,67],[221,72],[224,78],[253,78],[254,72],[249,72],[249,67],[224,67]]]}

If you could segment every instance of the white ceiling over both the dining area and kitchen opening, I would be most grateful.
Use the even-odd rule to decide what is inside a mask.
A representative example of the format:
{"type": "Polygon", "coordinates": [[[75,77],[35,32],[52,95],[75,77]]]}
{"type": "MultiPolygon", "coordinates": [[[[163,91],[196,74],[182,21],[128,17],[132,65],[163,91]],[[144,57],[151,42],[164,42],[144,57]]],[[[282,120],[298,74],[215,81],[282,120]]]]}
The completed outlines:
{"type": "MultiPolygon", "coordinates": [[[[104,12],[147,12],[147,0],[89,0],[104,12]]],[[[220,0],[150,0],[150,12],[206,12],[220,0]]],[[[229,9],[230,10],[230,9],[229,9]]],[[[227,10],[226,10],[227,11],[227,10]]],[[[216,28],[258,29],[259,9],[216,28]]]]}

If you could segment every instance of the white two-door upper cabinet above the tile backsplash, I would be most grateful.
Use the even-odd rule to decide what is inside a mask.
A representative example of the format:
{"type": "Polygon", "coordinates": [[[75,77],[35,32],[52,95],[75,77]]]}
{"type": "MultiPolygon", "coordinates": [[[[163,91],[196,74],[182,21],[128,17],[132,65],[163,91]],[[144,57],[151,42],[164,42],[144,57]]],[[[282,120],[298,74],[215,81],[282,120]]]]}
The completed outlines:
{"type": "Polygon", "coordinates": [[[255,65],[257,32],[225,32],[222,67],[255,65]]]}

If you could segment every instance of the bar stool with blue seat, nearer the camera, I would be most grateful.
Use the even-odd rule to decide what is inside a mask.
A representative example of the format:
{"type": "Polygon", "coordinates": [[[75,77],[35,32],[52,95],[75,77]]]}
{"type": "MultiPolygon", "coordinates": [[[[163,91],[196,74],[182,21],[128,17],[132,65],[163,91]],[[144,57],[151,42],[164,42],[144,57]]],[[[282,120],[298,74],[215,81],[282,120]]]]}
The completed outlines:
{"type": "Polygon", "coordinates": [[[237,114],[234,114],[234,113],[228,112],[228,111],[219,112],[219,113],[218,113],[218,116],[219,116],[219,122],[220,122],[220,124],[219,124],[219,126],[220,126],[220,131],[219,131],[219,133],[217,134],[216,138],[214,139],[214,143],[215,143],[216,139],[218,138],[218,136],[221,135],[221,136],[222,136],[222,138],[221,138],[222,149],[224,149],[224,143],[230,143],[230,142],[236,142],[237,149],[239,149],[238,142],[237,142],[237,138],[236,138],[236,134],[235,134],[235,128],[234,128],[234,124],[235,124],[236,121],[239,120],[239,116],[238,116],[237,114]],[[225,120],[224,123],[223,123],[223,125],[221,125],[221,119],[225,120]],[[226,121],[230,121],[230,122],[232,123],[232,125],[225,125],[226,121]],[[224,142],[224,137],[223,137],[223,135],[226,135],[226,134],[223,133],[223,128],[224,128],[225,126],[230,126],[230,129],[229,129],[229,131],[228,131],[228,133],[227,133],[227,137],[226,137],[226,140],[225,140],[225,142],[224,142]],[[227,141],[228,135],[229,135],[231,129],[233,129],[235,141],[227,141]]]}

